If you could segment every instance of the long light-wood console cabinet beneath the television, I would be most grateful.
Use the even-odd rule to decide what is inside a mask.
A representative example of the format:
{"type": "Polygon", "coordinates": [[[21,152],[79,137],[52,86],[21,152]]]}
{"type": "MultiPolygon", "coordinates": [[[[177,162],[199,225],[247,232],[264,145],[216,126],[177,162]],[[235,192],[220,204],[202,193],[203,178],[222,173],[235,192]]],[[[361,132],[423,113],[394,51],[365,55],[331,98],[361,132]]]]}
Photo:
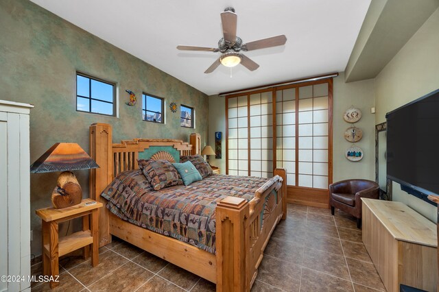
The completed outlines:
{"type": "Polygon", "coordinates": [[[436,291],[436,224],[401,202],[362,198],[363,243],[385,289],[400,284],[436,291]]]}

